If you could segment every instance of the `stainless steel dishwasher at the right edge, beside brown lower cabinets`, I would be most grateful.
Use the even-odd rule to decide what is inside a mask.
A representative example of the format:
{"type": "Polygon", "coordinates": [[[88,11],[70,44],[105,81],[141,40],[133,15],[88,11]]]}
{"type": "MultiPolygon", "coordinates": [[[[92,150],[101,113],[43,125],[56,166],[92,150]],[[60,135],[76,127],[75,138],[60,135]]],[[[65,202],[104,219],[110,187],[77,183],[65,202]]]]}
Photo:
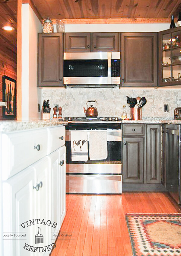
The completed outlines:
{"type": "Polygon", "coordinates": [[[165,125],[166,188],[177,203],[180,200],[180,125],[165,125]]]}

